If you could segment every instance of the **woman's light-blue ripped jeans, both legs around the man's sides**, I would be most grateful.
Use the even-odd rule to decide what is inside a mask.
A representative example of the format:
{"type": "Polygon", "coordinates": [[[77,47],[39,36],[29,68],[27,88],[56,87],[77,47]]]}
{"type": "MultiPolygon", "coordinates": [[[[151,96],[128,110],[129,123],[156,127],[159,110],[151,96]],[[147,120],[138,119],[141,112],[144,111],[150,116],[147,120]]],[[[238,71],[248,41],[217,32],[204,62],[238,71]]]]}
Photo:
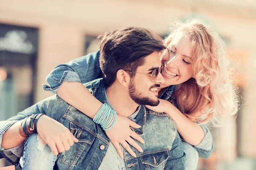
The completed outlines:
{"type": "MultiPolygon", "coordinates": [[[[186,170],[196,170],[198,152],[190,144],[183,142],[186,153],[186,170]]],[[[30,135],[24,144],[23,170],[52,170],[58,156],[53,155],[50,147],[38,134],[30,135]]]]}

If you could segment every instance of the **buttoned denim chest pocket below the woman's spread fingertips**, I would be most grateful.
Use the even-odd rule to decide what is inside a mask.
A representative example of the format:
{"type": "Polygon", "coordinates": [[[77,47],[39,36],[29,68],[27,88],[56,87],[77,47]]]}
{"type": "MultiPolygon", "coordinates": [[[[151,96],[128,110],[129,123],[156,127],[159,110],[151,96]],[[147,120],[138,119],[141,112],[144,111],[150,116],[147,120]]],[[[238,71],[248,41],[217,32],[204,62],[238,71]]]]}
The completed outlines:
{"type": "Polygon", "coordinates": [[[140,157],[143,170],[163,170],[169,154],[167,151],[151,153],[140,157]]]}

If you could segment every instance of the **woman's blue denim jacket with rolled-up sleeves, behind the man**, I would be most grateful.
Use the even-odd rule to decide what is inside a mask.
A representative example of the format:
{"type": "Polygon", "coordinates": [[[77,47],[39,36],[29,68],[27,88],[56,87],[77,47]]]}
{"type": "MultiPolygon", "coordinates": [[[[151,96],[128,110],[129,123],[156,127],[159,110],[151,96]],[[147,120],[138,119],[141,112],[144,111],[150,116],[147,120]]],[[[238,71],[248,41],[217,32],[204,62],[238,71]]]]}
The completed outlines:
{"type": "MultiPolygon", "coordinates": [[[[100,52],[97,51],[74,59],[66,64],[57,65],[46,78],[49,85],[44,84],[43,89],[56,94],[62,82],[87,83],[94,79],[102,78],[102,72],[99,67],[99,56],[100,52]]],[[[160,98],[170,101],[172,92],[174,90],[175,85],[170,85],[168,88],[166,88],[165,92],[160,96],[160,98]]],[[[177,105],[175,106],[177,107],[177,105]]],[[[185,147],[184,151],[186,153],[187,148],[193,147],[195,150],[197,150],[199,157],[207,159],[211,155],[213,149],[212,134],[206,125],[201,125],[201,127],[204,130],[204,139],[196,146],[186,143],[186,146],[188,147],[185,147]]],[[[189,159],[188,155],[187,159],[189,159]]]]}

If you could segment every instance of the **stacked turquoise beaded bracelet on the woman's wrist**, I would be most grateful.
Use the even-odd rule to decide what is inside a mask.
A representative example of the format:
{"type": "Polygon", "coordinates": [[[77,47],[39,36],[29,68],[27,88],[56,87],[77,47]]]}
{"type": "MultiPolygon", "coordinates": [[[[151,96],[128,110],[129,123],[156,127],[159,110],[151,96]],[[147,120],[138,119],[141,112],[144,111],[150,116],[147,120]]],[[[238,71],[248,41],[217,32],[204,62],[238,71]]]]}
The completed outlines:
{"type": "Polygon", "coordinates": [[[115,125],[117,119],[116,111],[111,109],[109,105],[104,103],[100,110],[96,113],[93,118],[93,121],[97,124],[100,124],[103,130],[111,130],[115,125]]]}

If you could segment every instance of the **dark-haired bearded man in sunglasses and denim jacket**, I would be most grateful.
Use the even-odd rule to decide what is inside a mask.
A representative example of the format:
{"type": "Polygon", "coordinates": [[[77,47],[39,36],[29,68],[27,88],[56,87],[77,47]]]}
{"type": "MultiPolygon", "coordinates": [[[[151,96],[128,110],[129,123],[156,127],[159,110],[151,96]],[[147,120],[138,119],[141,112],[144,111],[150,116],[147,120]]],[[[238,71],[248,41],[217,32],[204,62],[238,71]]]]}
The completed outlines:
{"type": "Polygon", "coordinates": [[[55,164],[61,170],[183,170],[185,154],[175,122],[165,113],[156,113],[144,107],[159,104],[157,88],[164,82],[160,74],[159,53],[165,47],[158,38],[151,30],[134,27],[105,33],[100,42],[103,80],[97,79],[86,84],[96,99],[108,104],[105,109],[111,107],[141,126],[133,130],[145,141],[145,144],[137,142],[143,152],[132,147],[136,155],[132,156],[123,150],[125,157],[120,159],[102,129],[103,125],[106,129],[111,128],[116,113],[105,115],[100,110],[91,119],[56,95],[9,119],[24,121],[1,122],[2,156],[13,163],[15,152],[12,150],[15,148],[3,148],[10,148],[11,144],[17,146],[26,135],[43,131],[47,125],[42,125],[42,120],[49,119],[49,116],[67,127],[79,142],[74,138],[73,141],[68,140],[69,143],[77,143],[57,157],[50,150],[52,146],[45,145],[37,133],[32,134],[24,144],[23,169],[52,169],[55,164]]]}

